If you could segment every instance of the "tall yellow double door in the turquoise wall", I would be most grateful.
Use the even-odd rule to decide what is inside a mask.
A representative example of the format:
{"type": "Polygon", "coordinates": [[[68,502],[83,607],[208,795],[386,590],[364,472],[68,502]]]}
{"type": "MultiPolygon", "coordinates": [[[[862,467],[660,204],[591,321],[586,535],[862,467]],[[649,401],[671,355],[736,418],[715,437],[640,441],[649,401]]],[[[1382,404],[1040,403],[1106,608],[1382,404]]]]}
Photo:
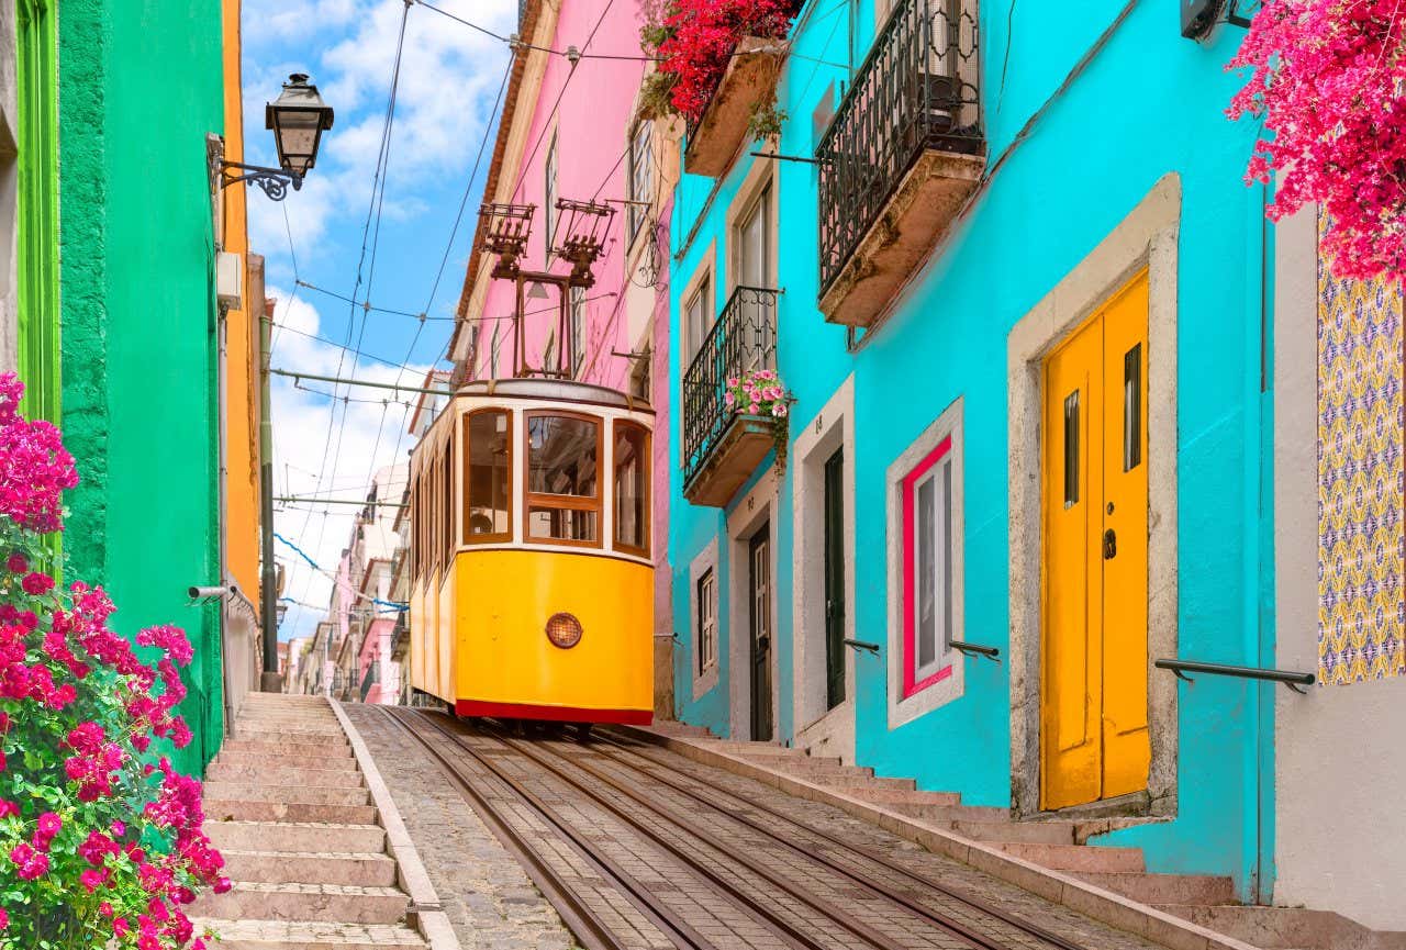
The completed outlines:
{"type": "Polygon", "coordinates": [[[1045,363],[1042,807],[1147,787],[1147,275],[1045,363]]]}

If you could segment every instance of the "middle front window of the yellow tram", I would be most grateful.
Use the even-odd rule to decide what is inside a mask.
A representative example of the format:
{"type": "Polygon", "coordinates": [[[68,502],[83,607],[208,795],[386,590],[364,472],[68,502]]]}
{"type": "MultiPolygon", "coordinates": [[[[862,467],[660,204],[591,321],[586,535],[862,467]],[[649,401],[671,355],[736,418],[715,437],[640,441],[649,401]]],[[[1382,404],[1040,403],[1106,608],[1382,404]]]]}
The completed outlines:
{"type": "Polygon", "coordinates": [[[527,416],[527,537],[600,544],[600,422],[527,416]]]}

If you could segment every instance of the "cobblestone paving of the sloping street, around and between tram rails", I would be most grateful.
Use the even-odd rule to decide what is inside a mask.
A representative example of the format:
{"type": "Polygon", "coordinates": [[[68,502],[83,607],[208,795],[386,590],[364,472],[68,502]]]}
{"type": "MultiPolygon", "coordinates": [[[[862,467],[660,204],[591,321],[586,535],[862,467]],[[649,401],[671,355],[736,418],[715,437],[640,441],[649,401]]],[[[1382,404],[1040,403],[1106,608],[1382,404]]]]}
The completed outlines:
{"type": "MultiPolygon", "coordinates": [[[[475,929],[465,946],[567,946],[530,943],[567,937],[546,901],[517,870],[512,856],[470,814],[470,807],[443,779],[437,763],[423,748],[406,734],[396,732],[375,711],[350,707],[349,714],[352,712],[356,712],[353,721],[367,735],[367,743],[405,812],[436,885],[447,881],[441,898],[446,904],[451,899],[463,904],[463,911],[451,911],[456,926],[463,919],[465,928],[475,929]],[[486,864],[482,867],[470,867],[484,861],[486,864]],[[526,904],[510,905],[512,901],[526,904]],[[496,929],[481,930],[478,918],[488,918],[489,925],[496,929]]],[[[672,752],[648,746],[631,746],[630,752],[605,741],[589,746],[537,741],[531,746],[513,749],[498,738],[450,725],[449,720],[432,717],[432,721],[449,729],[457,741],[425,722],[418,724],[416,732],[454,760],[456,767],[474,781],[479,794],[488,797],[495,808],[510,815],[510,821],[533,842],[531,846],[538,853],[553,856],[553,866],[571,890],[583,894],[586,905],[607,919],[610,930],[623,937],[623,946],[654,950],[671,943],[651,920],[641,916],[638,908],[603,880],[602,873],[575,846],[565,843],[541,815],[520,802],[501,779],[494,777],[488,770],[489,763],[526,787],[574,829],[588,847],[654,894],[662,906],[668,906],[697,936],[725,950],[799,946],[783,937],[768,918],[786,929],[793,928],[797,936],[807,935],[806,943],[827,950],[956,950],[973,946],[967,939],[943,930],[934,920],[910,909],[914,905],[945,915],[959,926],[986,935],[1010,950],[1049,950],[1053,946],[898,870],[876,866],[851,852],[845,846],[849,842],[882,853],[953,892],[970,895],[1014,918],[1032,922],[1074,946],[1087,950],[1156,947],[966,864],[932,854],[837,808],[793,798],[672,752]],[[464,746],[474,749],[484,760],[467,755],[464,746]],[[543,760],[537,762],[534,757],[543,760]],[[560,772],[553,773],[544,764],[560,772]],[[703,797],[703,801],[671,788],[652,776],[682,784],[695,795],[703,797]],[[612,787],[607,779],[621,787],[612,787]],[[624,788],[641,800],[631,798],[624,788]],[[778,815],[768,815],[755,808],[755,804],[775,808],[841,839],[841,843],[790,825],[778,815]],[[738,824],[738,815],[775,832],[775,836],[738,824]],[[661,845],[661,839],[666,845],[661,845]],[[859,877],[842,874],[834,866],[813,860],[817,854],[859,877]],[[908,901],[908,908],[883,897],[870,885],[901,895],[908,901]],[[745,892],[748,899],[737,902],[735,898],[724,897],[721,891],[728,888],[745,892]]]]}

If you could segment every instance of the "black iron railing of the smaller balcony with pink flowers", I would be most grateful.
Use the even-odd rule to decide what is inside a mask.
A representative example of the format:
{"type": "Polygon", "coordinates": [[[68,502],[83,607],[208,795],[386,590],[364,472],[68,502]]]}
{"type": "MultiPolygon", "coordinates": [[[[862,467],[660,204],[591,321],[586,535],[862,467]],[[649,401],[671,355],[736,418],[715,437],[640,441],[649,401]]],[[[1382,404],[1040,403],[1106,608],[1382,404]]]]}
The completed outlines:
{"type": "Polygon", "coordinates": [[[693,479],[738,406],[728,406],[727,381],[749,370],[776,368],[776,295],[738,287],[683,374],[683,482],[693,479]]]}

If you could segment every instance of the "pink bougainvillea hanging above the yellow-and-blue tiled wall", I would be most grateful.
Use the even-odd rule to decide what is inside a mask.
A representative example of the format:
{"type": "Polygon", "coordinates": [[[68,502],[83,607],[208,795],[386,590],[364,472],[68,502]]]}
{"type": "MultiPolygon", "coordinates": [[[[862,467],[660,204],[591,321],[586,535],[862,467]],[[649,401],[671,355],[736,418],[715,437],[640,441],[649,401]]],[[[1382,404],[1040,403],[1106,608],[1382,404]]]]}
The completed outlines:
{"type": "Polygon", "coordinates": [[[1406,4],[1264,0],[1230,69],[1227,115],[1264,118],[1249,181],[1275,177],[1270,218],[1319,202],[1339,277],[1406,270],[1406,4]]]}

